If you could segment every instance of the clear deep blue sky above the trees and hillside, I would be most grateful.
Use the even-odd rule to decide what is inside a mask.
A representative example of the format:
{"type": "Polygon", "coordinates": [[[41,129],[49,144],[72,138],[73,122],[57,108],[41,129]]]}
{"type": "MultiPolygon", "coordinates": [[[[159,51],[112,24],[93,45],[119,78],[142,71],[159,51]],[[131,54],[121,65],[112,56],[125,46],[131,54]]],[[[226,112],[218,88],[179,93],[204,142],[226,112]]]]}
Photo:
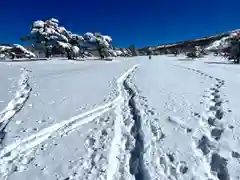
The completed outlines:
{"type": "Polygon", "coordinates": [[[54,17],[74,33],[144,47],[240,28],[239,8],[239,0],[2,0],[0,43],[20,43],[34,20],[54,17]]]}

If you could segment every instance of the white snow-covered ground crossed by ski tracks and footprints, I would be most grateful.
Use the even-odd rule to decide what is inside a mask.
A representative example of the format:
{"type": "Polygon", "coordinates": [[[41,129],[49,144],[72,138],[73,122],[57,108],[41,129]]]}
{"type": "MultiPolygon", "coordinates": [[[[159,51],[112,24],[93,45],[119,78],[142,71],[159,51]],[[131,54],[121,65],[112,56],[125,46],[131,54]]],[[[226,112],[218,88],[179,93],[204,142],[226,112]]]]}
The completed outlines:
{"type": "Polygon", "coordinates": [[[240,179],[238,65],[153,56],[0,70],[0,179],[240,179]]]}

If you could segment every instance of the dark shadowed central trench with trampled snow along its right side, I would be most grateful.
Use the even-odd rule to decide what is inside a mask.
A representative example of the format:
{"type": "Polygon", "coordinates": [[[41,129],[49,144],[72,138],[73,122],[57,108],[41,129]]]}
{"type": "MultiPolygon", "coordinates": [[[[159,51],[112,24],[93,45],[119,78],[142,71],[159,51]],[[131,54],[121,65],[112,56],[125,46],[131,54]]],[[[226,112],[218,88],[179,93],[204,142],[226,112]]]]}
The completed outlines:
{"type": "MultiPolygon", "coordinates": [[[[149,107],[147,98],[140,95],[140,90],[131,81],[132,77],[125,81],[125,89],[131,98],[128,102],[130,115],[134,120],[131,134],[135,139],[135,146],[129,161],[130,173],[136,180],[167,180],[177,177],[181,174],[180,164],[186,163],[175,161],[172,164],[163,160],[165,153],[159,149],[159,143],[163,141],[165,134],[158,124],[160,115],[149,107]]],[[[185,173],[186,170],[182,172],[185,173]]]]}

